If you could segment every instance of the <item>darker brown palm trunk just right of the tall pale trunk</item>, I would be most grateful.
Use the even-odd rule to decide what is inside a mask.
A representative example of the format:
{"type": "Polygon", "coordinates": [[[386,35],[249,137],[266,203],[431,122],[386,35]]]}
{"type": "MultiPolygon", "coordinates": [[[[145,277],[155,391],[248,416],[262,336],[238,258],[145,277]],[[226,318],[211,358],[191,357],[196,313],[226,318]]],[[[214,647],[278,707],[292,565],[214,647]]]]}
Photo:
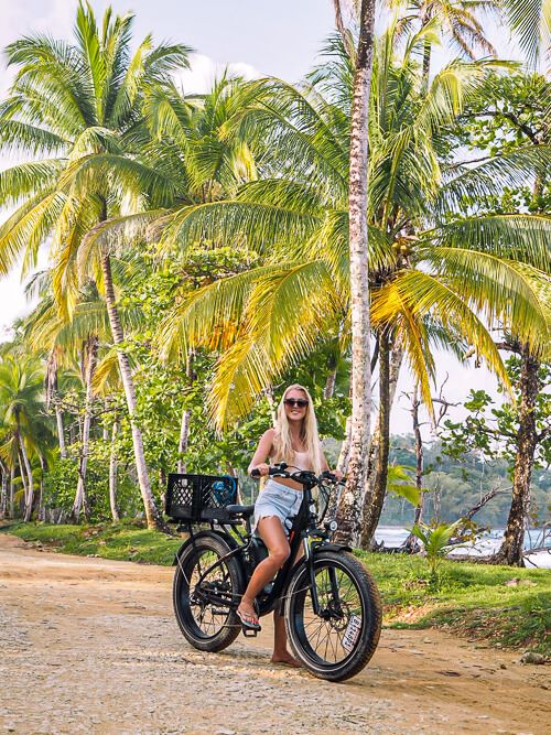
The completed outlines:
{"type": "Polygon", "coordinates": [[[383,339],[380,338],[379,415],[371,437],[371,444],[369,446],[366,487],[361,504],[361,549],[369,549],[372,545],[375,531],[379,523],[382,506],[385,504],[385,496],[387,494],[388,455],[390,451],[390,412],[395,402],[396,388],[403,360],[403,348],[401,342],[397,342],[392,346],[390,355],[388,355],[388,343],[383,348],[382,342],[383,339]],[[383,349],[386,352],[385,358],[382,356],[383,349]]]}

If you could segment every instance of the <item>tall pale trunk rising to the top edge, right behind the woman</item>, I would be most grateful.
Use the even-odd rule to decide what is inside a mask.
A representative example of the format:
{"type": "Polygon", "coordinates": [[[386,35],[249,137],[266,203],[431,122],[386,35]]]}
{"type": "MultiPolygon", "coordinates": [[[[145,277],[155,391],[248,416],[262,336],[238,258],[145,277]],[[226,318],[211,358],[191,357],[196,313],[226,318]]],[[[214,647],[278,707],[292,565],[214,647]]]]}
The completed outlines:
{"type": "Polygon", "coordinates": [[[349,248],[352,311],[352,434],[348,477],[338,499],[336,540],[350,543],[366,475],[371,410],[367,170],[369,90],[374,56],[375,0],[363,0],[350,123],[349,248]]]}

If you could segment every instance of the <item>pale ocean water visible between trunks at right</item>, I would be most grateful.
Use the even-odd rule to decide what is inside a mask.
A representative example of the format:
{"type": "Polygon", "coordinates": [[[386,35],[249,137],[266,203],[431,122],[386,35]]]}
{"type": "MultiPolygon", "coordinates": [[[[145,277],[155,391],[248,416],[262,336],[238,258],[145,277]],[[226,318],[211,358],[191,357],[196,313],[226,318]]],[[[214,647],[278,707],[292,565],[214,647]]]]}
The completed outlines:
{"type": "MultiPolygon", "coordinates": [[[[505,529],[496,528],[482,536],[476,543],[466,543],[460,547],[454,547],[450,556],[453,559],[456,554],[468,554],[472,556],[487,556],[496,552],[504,538],[505,529]]],[[[377,542],[385,542],[387,549],[397,549],[408,538],[409,530],[398,526],[379,526],[375,532],[377,542]]],[[[551,533],[549,530],[547,534],[543,529],[530,529],[525,536],[525,549],[533,549],[536,547],[544,545],[545,549],[537,551],[526,556],[527,566],[538,566],[542,569],[551,569],[551,533]]]]}

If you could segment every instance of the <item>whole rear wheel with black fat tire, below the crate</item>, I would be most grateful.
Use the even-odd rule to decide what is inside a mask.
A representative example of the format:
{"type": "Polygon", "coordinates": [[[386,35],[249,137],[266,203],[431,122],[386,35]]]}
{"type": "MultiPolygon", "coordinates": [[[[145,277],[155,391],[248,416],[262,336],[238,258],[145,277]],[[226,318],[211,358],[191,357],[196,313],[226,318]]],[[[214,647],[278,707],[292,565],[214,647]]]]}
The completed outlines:
{"type": "Polygon", "coordinates": [[[202,651],[224,650],[241,629],[235,614],[245,588],[241,568],[235,558],[217,563],[229,551],[224,539],[201,537],[184,549],[174,573],[177,624],[192,646],[202,651]]]}

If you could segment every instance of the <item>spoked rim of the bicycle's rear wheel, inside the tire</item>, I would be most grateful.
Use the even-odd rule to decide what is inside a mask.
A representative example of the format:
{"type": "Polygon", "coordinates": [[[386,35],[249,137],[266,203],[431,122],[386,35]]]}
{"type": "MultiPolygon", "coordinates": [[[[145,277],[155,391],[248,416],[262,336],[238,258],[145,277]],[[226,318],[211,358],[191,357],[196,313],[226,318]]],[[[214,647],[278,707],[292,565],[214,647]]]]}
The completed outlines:
{"type": "Polygon", "coordinates": [[[187,628],[197,638],[214,638],[228,624],[230,608],[216,604],[208,597],[216,595],[231,599],[234,584],[229,569],[225,562],[222,562],[204,575],[205,571],[219,558],[220,555],[210,549],[201,550],[190,560],[183,573],[181,570],[180,609],[187,628]],[[201,586],[197,586],[199,579],[201,586]]]}

